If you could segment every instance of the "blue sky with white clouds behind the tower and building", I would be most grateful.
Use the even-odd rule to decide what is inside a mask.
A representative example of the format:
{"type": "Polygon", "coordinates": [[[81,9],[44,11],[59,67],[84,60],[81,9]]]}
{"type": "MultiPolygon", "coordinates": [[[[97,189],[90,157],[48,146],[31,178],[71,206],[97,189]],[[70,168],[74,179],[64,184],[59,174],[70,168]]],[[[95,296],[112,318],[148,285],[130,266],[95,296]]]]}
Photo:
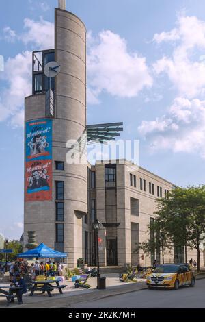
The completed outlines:
{"type": "MultiPolygon", "coordinates": [[[[0,232],[23,232],[23,97],[31,51],[53,47],[57,0],[2,0],[0,232]]],[[[140,165],[179,186],[204,183],[203,0],[67,0],[87,26],[88,123],[124,121],[140,165]]]]}

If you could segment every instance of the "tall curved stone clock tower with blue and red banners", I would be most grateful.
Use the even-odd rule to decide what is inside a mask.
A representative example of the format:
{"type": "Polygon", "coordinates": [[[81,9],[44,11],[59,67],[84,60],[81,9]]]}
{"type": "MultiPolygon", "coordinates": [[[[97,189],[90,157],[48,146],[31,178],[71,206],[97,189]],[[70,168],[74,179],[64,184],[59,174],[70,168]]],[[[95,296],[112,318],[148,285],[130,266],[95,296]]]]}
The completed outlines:
{"type": "MultiPolygon", "coordinates": [[[[42,64],[48,62],[46,57],[43,53],[42,64]]],[[[53,85],[54,116],[46,114],[46,79],[42,87],[36,86],[40,79],[36,71],[33,86],[41,92],[34,88],[25,99],[24,236],[36,232],[37,243],[68,252],[69,266],[76,267],[87,214],[87,164],[67,164],[66,143],[78,140],[86,127],[86,29],[77,16],[59,8],[55,9],[55,61],[61,67],[53,85]]]]}

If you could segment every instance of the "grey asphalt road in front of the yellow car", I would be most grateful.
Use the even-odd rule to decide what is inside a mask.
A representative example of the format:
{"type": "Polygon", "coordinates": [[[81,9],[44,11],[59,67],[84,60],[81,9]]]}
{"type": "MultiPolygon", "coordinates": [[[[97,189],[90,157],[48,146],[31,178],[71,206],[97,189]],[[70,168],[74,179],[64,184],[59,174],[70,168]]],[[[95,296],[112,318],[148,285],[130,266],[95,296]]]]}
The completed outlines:
{"type": "Polygon", "coordinates": [[[137,290],[74,304],[72,308],[205,308],[204,292],[205,280],[197,280],[193,288],[185,286],[179,290],[137,290]]]}

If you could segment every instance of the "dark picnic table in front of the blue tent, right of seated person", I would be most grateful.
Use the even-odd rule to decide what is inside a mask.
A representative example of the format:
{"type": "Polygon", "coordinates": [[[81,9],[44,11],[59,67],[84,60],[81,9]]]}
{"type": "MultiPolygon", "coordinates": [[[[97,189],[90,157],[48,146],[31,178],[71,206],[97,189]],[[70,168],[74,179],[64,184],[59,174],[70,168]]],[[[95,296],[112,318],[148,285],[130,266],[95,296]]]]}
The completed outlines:
{"type": "Polygon", "coordinates": [[[33,286],[30,288],[31,289],[31,294],[30,296],[33,296],[33,294],[36,291],[40,291],[42,293],[48,293],[49,297],[51,297],[51,292],[52,290],[58,289],[60,294],[63,294],[62,289],[66,287],[66,285],[60,285],[59,282],[60,279],[56,280],[38,280],[38,281],[33,281],[33,286]],[[56,284],[52,285],[52,284],[56,284]]]}

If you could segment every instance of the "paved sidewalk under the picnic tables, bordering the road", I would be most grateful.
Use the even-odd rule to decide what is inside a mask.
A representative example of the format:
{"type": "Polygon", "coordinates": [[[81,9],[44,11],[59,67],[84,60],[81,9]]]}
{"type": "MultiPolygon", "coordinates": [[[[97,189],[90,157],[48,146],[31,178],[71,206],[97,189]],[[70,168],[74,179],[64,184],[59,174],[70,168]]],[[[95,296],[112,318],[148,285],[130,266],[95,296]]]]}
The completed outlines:
{"type": "MultiPolygon", "coordinates": [[[[73,304],[95,301],[97,299],[103,299],[105,297],[113,295],[121,295],[125,293],[135,292],[136,290],[141,290],[146,288],[145,280],[138,280],[137,283],[123,283],[120,282],[118,274],[105,274],[106,280],[106,290],[97,290],[96,278],[91,278],[88,283],[92,285],[89,290],[85,288],[74,288],[74,282],[64,282],[67,287],[64,288],[63,294],[59,294],[58,290],[53,290],[52,297],[47,294],[34,293],[33,297],[29,296],[29,293],[23,295],[23,305],[18,306],[18,304],[10,304],[8,308],[72,308],[73,304]],[[111,276],[115,275],[115,276],[111,276]]],[[[5,299],[0,297],[0,309],[6,308],[5,299]]]]}

